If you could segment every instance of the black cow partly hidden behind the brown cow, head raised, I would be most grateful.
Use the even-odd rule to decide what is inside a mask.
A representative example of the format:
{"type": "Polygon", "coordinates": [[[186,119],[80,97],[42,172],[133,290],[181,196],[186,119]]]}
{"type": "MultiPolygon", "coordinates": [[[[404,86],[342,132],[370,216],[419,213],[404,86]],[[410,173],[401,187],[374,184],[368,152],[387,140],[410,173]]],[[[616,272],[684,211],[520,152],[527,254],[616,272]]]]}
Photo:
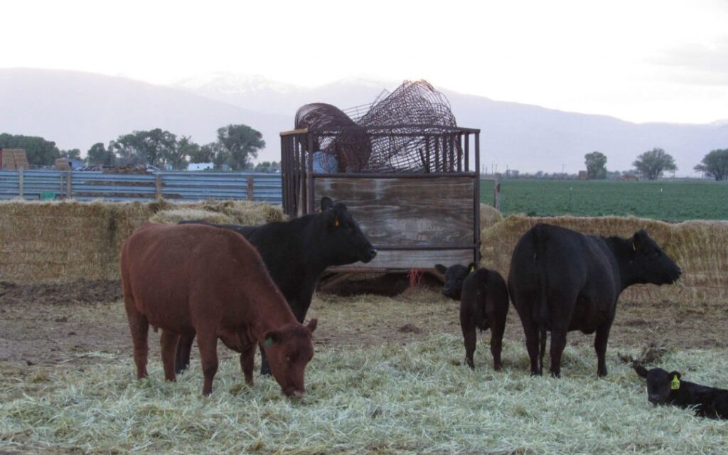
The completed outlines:
{"type": "MultiPolygon", "coordinates": [[[[263,226],[205,221],[182,223],[210,224],[231,229],[245,237],[261,254],[271,278],[299,322],[306,317],[319,277],[328,266],[369,262],[376,256],[376,250],[359,229],[347,206],[341,202],[334,204],[328,197],[321,199],[320,213],[263,226]]],[[[192,341],[194,336],[182,336],[179,341],[175,363],[178,372],[189,365],[192,341]]],[[[263,349],[261,357],[261,373],[269,374],[263,349]]]]}

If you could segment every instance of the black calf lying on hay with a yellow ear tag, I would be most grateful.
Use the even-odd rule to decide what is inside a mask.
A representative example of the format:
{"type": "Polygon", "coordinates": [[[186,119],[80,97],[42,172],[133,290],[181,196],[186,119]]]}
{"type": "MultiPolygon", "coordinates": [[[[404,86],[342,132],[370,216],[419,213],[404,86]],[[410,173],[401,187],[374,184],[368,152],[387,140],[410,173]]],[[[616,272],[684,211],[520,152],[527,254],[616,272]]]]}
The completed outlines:
{"type": "Polygon", "coordinates": [[[668,373],[662,368],[647,371],[638,363],[633,368],[647,379],[647,399],[653,405],[695,407],[697,416],[728,419],[728,390],[683,381],[677,371],[668,373]]]}

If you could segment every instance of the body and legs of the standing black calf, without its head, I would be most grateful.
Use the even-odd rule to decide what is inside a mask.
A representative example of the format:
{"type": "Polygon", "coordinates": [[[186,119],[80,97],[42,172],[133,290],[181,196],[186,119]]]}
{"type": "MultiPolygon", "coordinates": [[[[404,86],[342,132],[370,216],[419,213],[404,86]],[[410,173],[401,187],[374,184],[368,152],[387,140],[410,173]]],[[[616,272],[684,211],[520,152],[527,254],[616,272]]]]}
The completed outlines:
{"type": "Polygon", "coordinates": [[[493,368],[501,369],[501,349],[505,320],[508,315],[508,288],[501,274],[494,270],[476,269],[462,283],[460,297],[460,328],[465,342],[465,363],[475,368],[472,355],[475,353],[480,331],[491,329],[491,353],[493,368]]]}

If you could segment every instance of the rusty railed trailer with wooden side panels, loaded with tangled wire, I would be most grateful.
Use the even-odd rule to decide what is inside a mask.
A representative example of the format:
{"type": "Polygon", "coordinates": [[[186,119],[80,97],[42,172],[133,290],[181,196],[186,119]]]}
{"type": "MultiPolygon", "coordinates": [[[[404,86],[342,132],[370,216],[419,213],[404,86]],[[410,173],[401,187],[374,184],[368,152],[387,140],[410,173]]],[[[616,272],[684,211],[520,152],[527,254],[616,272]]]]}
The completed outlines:
{"type": "Polygon", "coordinates": [[[480,130],[457,126],[424,81],[367,107],[298,110],[296,129],[281,132],[285,213],[314,213],[322,197],[349,207],[379,254],[337,272],[479,261],[480,130]]]}

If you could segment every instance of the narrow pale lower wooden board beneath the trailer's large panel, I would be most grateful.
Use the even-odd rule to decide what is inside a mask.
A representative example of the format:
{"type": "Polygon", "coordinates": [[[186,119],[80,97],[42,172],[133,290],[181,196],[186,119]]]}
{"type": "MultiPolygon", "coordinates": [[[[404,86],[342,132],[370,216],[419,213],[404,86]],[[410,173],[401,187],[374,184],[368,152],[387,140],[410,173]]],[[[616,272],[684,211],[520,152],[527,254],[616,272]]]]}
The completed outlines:
{"type": "Polygon", "coordinates": [[[328,272],[366,272],[370,269],[432,269],[435,264],[451,266],[470,264],[472,250],[388,250],[379,251],[368,264],[357,262],[347,266],[329,267],[328,272]]]}

